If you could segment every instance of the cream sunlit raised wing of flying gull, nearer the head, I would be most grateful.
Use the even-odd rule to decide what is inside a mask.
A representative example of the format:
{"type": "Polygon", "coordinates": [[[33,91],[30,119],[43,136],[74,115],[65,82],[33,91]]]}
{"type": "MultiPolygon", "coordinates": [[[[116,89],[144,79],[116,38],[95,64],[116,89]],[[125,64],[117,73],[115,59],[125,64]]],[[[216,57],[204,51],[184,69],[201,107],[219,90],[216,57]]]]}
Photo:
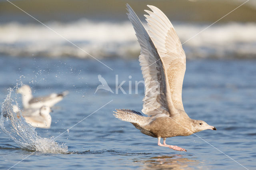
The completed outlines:
{"type": "Polygon", "coordinates": [[[186,55],[172,23],[166,15],[155,6],[148,5],[153,11],[145,10],[148,33],[164,64],[168,77],[172,103],[176,109],[184,110],[182,104],[182,83],[186,70],[186,55]]]}

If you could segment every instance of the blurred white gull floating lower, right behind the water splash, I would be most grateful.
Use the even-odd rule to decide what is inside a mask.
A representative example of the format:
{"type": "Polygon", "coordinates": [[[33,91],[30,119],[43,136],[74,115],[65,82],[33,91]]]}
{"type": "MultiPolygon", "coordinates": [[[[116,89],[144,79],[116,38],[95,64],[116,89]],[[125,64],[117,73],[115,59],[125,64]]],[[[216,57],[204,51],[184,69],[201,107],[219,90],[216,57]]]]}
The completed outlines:
{"type": "Polygon", "coordinates": [[[12,108],[13,111],[17,113],[17,117],[19,117],[18,113],[21,113],[26,122],[33,127],[51,127],[52,117],[50,115],[50,112],[52,110],[48,106],[42,106],[40,109],[25,109],[24,111],[20,111],[17,105],[13,105],[12,108]]]}

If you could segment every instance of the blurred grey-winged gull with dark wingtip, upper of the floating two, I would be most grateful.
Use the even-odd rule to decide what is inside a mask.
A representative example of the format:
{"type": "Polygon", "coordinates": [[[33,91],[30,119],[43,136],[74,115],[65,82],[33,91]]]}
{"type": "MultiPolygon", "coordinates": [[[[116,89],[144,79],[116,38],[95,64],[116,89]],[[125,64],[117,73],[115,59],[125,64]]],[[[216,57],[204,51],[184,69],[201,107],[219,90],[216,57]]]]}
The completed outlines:
{"type": "Polygon", "coordinates": [[[32,89],[29,85],[23,85],[17,90],[22,95],[22,104],[24,109],[39,109],[42,106],[52,107],[68,94],[68,91],[62,93],[52,93],[48,96],[33,97],[32,89]]]}

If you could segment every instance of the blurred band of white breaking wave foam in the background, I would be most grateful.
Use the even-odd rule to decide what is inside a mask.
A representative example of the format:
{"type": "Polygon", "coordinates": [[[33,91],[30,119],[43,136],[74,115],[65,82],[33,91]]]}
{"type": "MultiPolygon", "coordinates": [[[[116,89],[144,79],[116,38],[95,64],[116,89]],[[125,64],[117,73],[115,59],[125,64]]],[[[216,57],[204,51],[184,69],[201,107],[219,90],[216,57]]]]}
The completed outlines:
{"type": "MultiPolygon", "coordinates": [[[[130,22],[46,23],[94,57],[138,57],[140,46],[130,22]]],[[[176,24],[181,42],[198,34],[206,24],[176,24]]],[[[256,24],[216,24],[183,45],[189,59],[196,57],[255,58],[256,24]]],[[[90,57],[64,38],[39,24],[11,22],[0,25],[0,53],[14,56],[90,57]]]]}

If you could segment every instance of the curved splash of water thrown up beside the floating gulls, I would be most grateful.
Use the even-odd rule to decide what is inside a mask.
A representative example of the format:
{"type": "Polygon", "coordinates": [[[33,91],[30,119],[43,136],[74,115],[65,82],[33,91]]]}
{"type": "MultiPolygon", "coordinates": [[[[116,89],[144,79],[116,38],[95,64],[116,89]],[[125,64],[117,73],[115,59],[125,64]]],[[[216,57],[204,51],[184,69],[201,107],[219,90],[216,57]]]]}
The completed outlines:
{"type": "MultiPolygon", "coordinates": [[[[42,138],[38,136],[34,127],[26,123],[21,113],[15,113],[12,109],[12,103],[16,100],[11,99],[11,94],[14,89],[10,88],[10,93],[2,103],[0,115],[0,127],[10,136],[16,144],[26,150],[47,152],[47,153],[68,153],[68,147],[64,144],[59,145],[54,141],[54,138],[42,138]]],[[[17,104],[17,103],[16,103],[17,104]]]]}

